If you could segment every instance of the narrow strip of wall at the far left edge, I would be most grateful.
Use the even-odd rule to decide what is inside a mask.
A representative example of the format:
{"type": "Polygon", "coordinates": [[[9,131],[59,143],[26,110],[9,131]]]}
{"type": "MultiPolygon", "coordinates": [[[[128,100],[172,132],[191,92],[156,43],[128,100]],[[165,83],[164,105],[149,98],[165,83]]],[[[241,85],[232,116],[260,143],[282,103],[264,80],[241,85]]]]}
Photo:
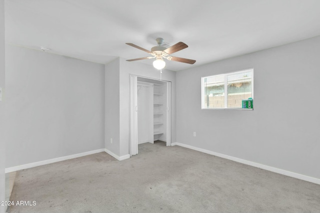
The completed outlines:
{"type": "MultiPolygon", "coordinates": [[[[0,87],[4,90],[4,0],[0,0],[0,87]]],[[[4,161],[5,161],[5,141],[4,141],[4,94],[0,101],[0,201],[4,201],[4,161]]],[[[4,213],[4,206],[0,206],[0,213],[4,213]]]]}

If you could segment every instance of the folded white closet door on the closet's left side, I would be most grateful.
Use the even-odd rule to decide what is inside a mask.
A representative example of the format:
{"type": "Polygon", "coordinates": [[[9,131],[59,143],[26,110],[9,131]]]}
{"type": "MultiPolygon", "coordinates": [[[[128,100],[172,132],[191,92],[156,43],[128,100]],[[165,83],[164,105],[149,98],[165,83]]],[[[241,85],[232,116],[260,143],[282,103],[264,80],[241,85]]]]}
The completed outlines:
{"type": "Polygon", "coordinates": [[[129,154],[138,154],[138,134],[137,134],[137,82],[135,75],[129,75],[130,87],[130,135],[129,135],[129,154]]]}

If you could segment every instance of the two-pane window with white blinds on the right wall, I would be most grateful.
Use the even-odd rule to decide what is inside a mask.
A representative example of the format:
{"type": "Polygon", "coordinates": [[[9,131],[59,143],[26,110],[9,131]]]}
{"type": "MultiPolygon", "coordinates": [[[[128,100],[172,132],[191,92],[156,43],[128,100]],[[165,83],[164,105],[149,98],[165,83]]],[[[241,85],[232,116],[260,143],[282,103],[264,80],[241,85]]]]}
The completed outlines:
{"type": "Polygon", "coordinates": [[[253,69],[201,78],[202,109],[242,108],[242,100],[253,99],[253,69]]]}

